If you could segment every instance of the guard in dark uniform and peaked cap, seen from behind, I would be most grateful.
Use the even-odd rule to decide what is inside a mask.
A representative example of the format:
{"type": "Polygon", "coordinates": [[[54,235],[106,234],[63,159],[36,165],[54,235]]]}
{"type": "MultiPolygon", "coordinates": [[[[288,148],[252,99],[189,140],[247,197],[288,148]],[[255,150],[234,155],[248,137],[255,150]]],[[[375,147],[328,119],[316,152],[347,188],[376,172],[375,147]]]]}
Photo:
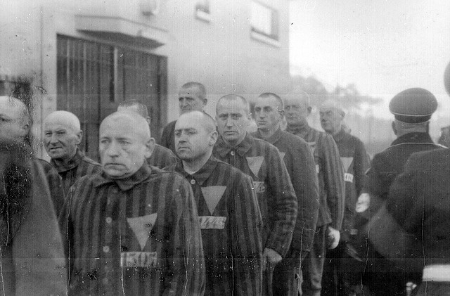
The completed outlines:
{"type": "MultiPolygon", "coordinates": [[[[428,134],[430,117],[437,108],[436,98],[430,91],[406,89],[392,98],[389,107],[395,117],[392,129],[397,139],[373,157],[371,168],[368,169],[364,192],[370,197],[370,206],[362,213],[367,219],[380,210],[392,182],[404,171],[406,160],[411,154],[441,147],[433,143],[428,134]]],[[[375,234],[371,231],[368,233],[371,233],[368,238],[373,243],[375,234]]],[[[368,265],[363,282],[369,286],[373,295],[404,295],[408,280],[420,281],[420,274],[399,273],[392,262],[374,250],[371,243],[368,250],[364,251],[368,254],[368,265]]]]}

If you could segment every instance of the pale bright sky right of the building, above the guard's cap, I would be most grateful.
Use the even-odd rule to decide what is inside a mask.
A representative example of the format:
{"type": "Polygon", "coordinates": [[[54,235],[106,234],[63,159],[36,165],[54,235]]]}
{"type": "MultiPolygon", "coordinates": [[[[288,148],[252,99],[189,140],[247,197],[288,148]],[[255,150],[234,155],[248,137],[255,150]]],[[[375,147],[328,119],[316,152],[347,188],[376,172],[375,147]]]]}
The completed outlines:
{"type": "Polygon", "coordinates": [[[383,98],[375,115],[390,117],[390,98],[410,87],[437,97],[449,117],[443,74],[450,62],[448,0],[291,0],[291,72],[314,75],[330,90],[356,84],[383,98]]]}

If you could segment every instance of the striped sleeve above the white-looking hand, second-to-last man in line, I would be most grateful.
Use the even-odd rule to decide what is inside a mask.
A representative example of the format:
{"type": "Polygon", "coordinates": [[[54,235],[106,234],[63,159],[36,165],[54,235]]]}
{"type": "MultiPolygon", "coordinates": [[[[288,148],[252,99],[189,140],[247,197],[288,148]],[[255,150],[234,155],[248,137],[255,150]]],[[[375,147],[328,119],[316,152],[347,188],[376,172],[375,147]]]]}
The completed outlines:
{"type": "Polygon", "coordinates": [[[338,146],[333,137],[326,134],[321,143],[323,155],[323,178],[327,193],[328,210],[330,210],[333,229],[340,230],[345,210],[344,169],[340,160],[338,146]]]}

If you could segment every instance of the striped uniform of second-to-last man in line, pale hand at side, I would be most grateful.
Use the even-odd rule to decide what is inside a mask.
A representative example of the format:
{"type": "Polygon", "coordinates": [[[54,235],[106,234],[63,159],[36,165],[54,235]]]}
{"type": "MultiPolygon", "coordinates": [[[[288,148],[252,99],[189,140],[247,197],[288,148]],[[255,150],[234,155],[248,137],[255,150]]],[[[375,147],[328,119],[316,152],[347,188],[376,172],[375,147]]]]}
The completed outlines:
{"type": "Polygon", "coordinates": [[[328,225],[340,231],[344,217],[345,183],[339,150],[333,137],[308,124],[288,125],[286,131],[300,136],[313,149],[319,179],[319,217],[314,243],[302,265],[304,295],[320,295],[328,225]]]}

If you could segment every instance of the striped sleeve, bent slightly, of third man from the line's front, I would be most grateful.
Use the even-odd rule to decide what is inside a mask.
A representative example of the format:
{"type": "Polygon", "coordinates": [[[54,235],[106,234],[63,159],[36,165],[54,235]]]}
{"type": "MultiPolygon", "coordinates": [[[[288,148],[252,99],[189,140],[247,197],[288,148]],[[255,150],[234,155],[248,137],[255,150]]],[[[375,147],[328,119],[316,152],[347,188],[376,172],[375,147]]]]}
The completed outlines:
{"type": "MultiPolygon", "coordinates": [[[[271,229],[264,247],[275,250],[281,256],[286,255],[293,238],[297,219],[297,197],[290,181],[288,170],[281,160],[278,150],[269,150],[268,180],[269,223],[271,229]]],[[[270,147],[269,147],[270,148],[270,147]]]]}

